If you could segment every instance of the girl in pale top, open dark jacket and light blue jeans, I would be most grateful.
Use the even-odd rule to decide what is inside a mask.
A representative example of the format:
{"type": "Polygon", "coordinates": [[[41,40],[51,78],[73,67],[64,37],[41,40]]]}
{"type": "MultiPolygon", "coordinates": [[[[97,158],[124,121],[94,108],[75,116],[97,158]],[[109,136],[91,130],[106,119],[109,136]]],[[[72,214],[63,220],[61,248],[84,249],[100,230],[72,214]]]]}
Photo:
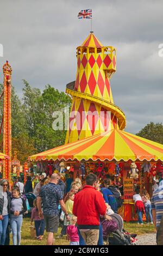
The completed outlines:
{"type": "Polygon", "coordinates": [[[27,211],[26,202],[20,197],[20,189],[12,187],[12,198],[11,198],[11,229],[12,229],[12,240],[13,245],[20,245],[21,243],[21,227],[23,222],[23,213],[27,211]]]}

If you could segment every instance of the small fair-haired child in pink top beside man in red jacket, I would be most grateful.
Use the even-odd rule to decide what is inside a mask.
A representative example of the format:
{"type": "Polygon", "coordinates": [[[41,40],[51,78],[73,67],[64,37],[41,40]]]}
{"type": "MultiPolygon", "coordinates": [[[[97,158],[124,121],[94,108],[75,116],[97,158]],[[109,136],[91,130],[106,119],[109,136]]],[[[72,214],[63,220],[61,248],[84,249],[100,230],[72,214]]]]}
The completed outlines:
{"type": "Polygon", "coordinates": [[[67,227],[67,238],[70,240],[70,245],[79,245],[78,228],[76,227],[77,217],[72,217],[72,224],[67,227]]]}

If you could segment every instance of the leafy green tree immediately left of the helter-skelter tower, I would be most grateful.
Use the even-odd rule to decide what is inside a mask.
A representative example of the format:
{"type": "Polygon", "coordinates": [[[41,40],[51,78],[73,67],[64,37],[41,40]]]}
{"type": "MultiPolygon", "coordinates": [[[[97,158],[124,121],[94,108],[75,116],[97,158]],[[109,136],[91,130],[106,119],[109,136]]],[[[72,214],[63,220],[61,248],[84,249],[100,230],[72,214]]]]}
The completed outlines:
{"type": "Polygon", "coordinates": [[[47,84],[41,94],[39,89],[30,87],[25,80],[23,88],[23,106],[27,120],[27,130],[30,138],[34,140],[37,151],[45,151],[64,144],[66,131],[54,131],[54,111],[64,112],[65,107],[71,106],[71,98],[64,92],[47,84]]]}

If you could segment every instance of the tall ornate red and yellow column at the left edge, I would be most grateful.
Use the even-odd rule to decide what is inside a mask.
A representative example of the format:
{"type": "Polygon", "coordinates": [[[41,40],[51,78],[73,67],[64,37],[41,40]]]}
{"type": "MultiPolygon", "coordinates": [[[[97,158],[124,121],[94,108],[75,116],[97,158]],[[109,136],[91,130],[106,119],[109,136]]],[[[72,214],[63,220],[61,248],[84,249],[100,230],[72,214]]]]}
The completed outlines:
{"type": "Polygon", "coordinates": [[[3,178],[11,182],[11,66],[8,61],[3,65],[4,95],[3,95],[3,153],[10,159],[4,160],[3,178]]]}

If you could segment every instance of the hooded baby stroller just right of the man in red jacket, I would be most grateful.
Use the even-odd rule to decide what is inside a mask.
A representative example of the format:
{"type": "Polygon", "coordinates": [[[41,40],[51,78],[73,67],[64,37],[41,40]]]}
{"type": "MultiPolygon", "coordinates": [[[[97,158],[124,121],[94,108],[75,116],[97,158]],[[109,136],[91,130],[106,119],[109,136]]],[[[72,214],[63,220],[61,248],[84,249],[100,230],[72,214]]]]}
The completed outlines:
{"type": "MultiPolygon", "coordinates": [[[[133,245],[133,243],[131,243],[130,237],[132,237],[132,235],[129,234],[125,234],[125,230],[123,230],[123,219],[120,215],[118,214],[111,214],[110,217],[112,218],[112,224],[111,222],[108,223],[110,225],[110,227],[108,227],[108,241],[109,241],[109,245],[133,245]]],[[[104,224],[106,225],[106,221],[104,223],[104,221],[102,222],[103,225],[103,238],[104,240],[106,239],[106,227],[104,226],[104,224]]],[[[133,234],[133,237],[135,237],[136,235],[133,234]]]]}

